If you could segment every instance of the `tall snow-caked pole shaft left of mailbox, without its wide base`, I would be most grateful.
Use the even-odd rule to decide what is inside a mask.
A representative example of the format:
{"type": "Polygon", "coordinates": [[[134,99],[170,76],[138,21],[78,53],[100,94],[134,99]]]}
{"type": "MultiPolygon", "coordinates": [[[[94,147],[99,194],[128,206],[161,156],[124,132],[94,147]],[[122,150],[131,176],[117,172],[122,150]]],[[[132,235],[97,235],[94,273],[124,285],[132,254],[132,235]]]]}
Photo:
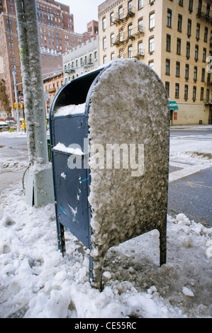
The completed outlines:
{"type": "Polygon", "coordinates": [[[35,0],[16,0],[30,164],[48,162],[45,102],[35,0]]]}

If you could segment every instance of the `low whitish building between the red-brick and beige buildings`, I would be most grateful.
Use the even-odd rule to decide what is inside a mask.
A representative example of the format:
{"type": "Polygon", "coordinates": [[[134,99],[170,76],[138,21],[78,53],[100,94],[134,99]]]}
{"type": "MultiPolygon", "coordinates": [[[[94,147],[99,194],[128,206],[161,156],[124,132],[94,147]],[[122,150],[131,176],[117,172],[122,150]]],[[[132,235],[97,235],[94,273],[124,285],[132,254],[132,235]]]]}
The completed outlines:
{"type": "Polygon", "coordinates": [[[65,83],[99,67],[99,36],[87,40],[63,55],[65,83]]]}

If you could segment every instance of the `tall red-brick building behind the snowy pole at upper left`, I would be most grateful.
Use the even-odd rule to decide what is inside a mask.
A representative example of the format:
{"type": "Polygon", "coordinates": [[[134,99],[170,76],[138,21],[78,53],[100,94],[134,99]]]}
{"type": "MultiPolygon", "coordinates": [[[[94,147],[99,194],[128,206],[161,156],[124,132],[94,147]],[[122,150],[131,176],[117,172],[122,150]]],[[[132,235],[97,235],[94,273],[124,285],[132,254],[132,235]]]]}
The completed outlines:
{"type": "MultiPolygon", "coordinates": [[[[70,47],[77,47],[84,43],[82,34],[74,33],[74,17],[69,12],[69,6],[65,6],[54,0],[37,0],[38,29],[40,35],[40,52],[48,59],[48,63],[42,61],[45,68],[50,64],[50,59],[55,56],[54,63],[60,64],[62,53],[70,47]]],[[[0,63],[4,72],[0,75],[6,81],[7,91],[11,107],[15,102],[13,71],[16,75],[18,91],[22,91],[21,61],[19,56],[18,30],[16,18],[16,6],[14,0],[0,0],[0,63]]],[[[0,106],[0,110],[3,112],[0,106]]],[[[14,111],[14,110],[13,110],[14,111]]],[[[14,111],[14,116],[16,112],[14,111]]]]}

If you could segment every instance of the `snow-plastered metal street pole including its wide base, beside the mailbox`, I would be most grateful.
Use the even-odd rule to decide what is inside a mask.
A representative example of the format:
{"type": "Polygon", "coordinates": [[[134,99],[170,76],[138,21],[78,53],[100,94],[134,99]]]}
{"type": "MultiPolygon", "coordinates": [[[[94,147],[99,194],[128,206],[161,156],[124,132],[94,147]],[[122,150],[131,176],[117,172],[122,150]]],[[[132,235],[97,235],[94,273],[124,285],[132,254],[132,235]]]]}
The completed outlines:
{"type": "Polygon", "coordinates": [[[15,1],[29,157],[26,201],[38,207],[54,201],[52,169],[48,163],[38,18],[35,0],[15,1]]]}

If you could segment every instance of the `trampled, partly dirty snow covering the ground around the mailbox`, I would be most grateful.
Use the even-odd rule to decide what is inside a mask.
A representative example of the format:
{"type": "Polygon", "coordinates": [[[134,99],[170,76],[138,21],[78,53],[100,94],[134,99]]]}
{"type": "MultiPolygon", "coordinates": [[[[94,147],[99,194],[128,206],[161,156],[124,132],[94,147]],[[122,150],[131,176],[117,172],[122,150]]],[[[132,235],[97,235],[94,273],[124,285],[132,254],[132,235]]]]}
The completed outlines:
{"type": "MultiPolygon", "coordinates": [[[[209,167],[211,160],[194,152],[212,154],[211,146],[174,137],[170,159],[209,167]]],[[[57,250],[54,205],[29,207],[21,181],[0,200],[0,317],[212,317],[212,228],[168,216],[161,267],[157,230],[111,248],[100,292],[88,282],[88,251],[70,232],[65,256],[57,250]]]]}

